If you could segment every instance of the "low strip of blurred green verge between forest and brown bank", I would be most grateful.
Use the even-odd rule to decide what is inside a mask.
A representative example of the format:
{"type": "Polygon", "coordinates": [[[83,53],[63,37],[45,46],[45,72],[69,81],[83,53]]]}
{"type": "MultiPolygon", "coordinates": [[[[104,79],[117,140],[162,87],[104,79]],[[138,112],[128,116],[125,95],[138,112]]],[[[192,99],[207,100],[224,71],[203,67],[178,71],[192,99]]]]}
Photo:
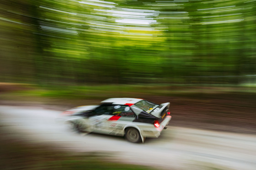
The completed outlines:
{"type": "MultiPolygon", "coordinates": [[[[155,101],[165,97],[189,97],[192,99],[218,98],[219,95],[240,96],[255,100],[255,87],[192,86],[192,85],[51,85],[33,86],[22,84],[0,85],[0,98],[7,101],[43,102],[48,105],[90,105],[111,97],[144,98],[155,101]],[[89,101],[89,103],[88,103],[89,101]],[[61,103],[59,103],[61,102],[61,103]]],[[[238,97],[239,98],[239,97],[238,97]]],[[[157,102],[157,101],[155,101],[157,102]]],[[[43,104],[42,103],[42,104],[43,104]]],[[[179,105],[183,105],[179,103],[179,105]]],[[[237,105],[237,104],[235,104],[237,105]]],[[[71,107],[71,106],[70,106],[71,107]]]]}

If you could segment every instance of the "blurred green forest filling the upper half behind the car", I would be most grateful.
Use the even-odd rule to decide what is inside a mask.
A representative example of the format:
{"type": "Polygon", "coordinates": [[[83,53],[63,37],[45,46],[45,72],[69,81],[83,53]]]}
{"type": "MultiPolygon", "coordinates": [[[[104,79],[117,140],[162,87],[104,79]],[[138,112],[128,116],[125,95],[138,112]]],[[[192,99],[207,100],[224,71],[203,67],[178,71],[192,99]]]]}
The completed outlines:
{"type": "Polygon", "coordinates": [[[256,84],[256,0],[0,0],[0,81],[256,84]]]}

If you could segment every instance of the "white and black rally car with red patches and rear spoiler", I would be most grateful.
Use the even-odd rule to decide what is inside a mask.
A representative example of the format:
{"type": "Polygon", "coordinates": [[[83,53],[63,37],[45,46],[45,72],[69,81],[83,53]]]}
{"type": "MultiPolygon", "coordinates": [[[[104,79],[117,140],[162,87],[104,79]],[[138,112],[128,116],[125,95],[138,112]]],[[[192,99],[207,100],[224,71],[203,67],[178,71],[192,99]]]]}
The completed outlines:
{"type": "Polygon", "coordinates": [[[110,98],[100,105],[79,106],[63,112],[76,130],[125,136],[134,143],[157,138],[171,120],[170,103],[161,105],[135,98],[110,98]]]}

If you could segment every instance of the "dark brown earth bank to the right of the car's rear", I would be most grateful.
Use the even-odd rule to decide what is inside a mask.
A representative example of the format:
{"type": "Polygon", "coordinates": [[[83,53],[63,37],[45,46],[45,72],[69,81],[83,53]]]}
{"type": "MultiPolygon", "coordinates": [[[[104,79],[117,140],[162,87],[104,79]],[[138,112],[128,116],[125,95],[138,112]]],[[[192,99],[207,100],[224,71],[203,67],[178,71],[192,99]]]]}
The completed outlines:
{"type": "Polygon", "coordinates": [[[171,102],[170,125],[256,134],[256,103],[252,96],[215,94],[200,98],[156,98],[160,98],[158,103],[171,102]]]}

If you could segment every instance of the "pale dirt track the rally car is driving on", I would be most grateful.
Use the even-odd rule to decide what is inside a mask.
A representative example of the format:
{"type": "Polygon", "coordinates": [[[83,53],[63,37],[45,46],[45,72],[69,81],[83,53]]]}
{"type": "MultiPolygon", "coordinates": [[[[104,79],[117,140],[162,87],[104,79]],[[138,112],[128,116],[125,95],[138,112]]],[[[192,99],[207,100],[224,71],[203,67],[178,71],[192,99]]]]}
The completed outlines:
{"type": "Polygon", "coordinates": [[[46,143],[76,152],[97,151],[112,161],[173,170],[210,167],[255,170],[256,167],[256,135],[170,125],[158,139],[133,144],[123,137],[74,134],[56,121],[59,113],[40,107],[0,106],[0,124],[6,135],[27,142],[46,143]]]}

